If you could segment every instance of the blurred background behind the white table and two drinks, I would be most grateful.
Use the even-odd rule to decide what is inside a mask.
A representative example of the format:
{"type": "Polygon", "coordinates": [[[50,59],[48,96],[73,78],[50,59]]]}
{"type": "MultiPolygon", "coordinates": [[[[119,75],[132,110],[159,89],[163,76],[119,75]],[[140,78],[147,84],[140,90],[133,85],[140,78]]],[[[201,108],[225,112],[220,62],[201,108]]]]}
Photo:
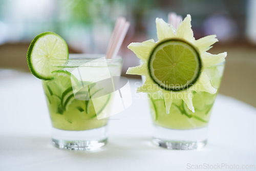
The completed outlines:
{"type": "Polygon", "coordinates": [[[63,37],[70,53],[105,53],[117,17],[124,16],[131,22],[119,51],[125,75],[138,65],[127,45],[157,40],[155,18],[167,22],[168,12],[190,14],[196,39],[217,35],[219,42],[209,52],[228,53],[220,93],[256,106],[254,0],[0,0],[0,69],[29,72],[28,47],[45,31],[63,37]]]}

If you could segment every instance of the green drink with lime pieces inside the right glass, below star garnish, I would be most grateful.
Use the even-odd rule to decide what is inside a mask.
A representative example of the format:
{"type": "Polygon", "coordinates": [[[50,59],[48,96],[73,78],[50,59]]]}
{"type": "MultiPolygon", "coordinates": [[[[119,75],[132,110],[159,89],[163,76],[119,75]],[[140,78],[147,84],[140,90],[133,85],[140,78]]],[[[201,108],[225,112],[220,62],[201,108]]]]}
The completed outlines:
{"type": "MultiPolygon", "coordinates": [[[[223,69],[224,64],[215,65],[206,69],[206,73],[211,78],[211,84],[216,89],[220,87],[223,69]]],[[[161,94],[158,92],[150,93],[148,94],[148,100],[153,124],[177,130],[195,129],[207,126],[217,93],[193,92],[195,113],[187,108],[187,105],[182,99],[175,99],[169,114],[165,112],[164,99],[161,94]]]]}

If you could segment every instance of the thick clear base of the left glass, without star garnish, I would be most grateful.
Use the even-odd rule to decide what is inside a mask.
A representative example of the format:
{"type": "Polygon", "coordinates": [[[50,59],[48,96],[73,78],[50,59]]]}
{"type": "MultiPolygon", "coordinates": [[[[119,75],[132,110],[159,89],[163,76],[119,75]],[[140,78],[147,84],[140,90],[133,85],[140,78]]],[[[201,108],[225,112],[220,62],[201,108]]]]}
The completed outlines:
{"type": "Polygon", "coordinates": [[[52,129],[52,142],[61,149],[93,150],[104,146],[107,141],[108,131],[106,126],[86,131],[52,129]]]}

